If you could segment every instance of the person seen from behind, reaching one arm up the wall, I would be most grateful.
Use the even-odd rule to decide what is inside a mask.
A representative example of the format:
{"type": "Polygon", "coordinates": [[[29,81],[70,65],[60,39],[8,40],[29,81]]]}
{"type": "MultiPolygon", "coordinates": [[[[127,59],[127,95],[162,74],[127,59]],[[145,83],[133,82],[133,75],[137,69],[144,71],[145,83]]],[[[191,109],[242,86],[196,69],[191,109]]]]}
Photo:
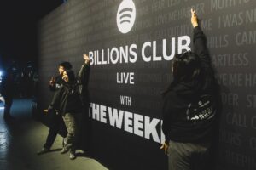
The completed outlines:
{"type": "Polygon", "coordinates": [[[191,15],[195,52],[176,54],[173,82],[163,94],[166,142],[161,149],[168,155],[169,170],[209,169],[210,149],[218,129],[218,82],[195,10],[191,9],[191,15]]]}

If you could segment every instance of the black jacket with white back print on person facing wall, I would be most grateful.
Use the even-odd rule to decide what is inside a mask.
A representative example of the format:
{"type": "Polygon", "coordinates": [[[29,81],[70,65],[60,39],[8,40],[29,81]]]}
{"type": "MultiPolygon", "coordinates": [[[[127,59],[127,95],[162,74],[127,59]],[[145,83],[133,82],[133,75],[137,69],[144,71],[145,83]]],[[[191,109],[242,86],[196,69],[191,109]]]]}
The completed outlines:
{"type": "Polygon", "coordinates": [[[166,141],[207,142],[217,126],[218,82],[214,77],[207,40],[194,29],[194,53],[201,60],[201,78],[172,82],[164,94],[163,132],[166,141]]]}

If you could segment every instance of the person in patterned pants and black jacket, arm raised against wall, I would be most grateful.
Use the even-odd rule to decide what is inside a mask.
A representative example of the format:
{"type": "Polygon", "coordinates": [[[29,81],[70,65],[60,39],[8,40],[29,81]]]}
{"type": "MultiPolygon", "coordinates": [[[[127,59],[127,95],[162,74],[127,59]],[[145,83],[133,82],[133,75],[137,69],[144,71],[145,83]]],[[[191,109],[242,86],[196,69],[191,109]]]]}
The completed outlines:
{"type": "Polygon", "coordinates": [[[60,89],[55,93],[55,96],[49,105],[48,111],[58,110],[67,127],[67,137],[65,145],[70,148],[69,158],[75,159],[75,151],[77,148],[77,137],[79,129],[79,120],[83,111],[83,88],[87,86],[88,74],[90,71],[90,59],[85,54],[84,64],[82,65],[79,75],[76,78],[72,70],[63,72],[60,89]]]}

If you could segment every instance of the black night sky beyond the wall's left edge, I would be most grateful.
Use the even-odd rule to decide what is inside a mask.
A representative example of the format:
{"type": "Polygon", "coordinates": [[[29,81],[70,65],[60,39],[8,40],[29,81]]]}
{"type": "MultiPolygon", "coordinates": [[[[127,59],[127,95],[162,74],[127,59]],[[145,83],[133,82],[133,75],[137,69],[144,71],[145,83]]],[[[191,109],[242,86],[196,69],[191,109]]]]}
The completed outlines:
{"type": "Polygon", "coordinates": [[[37,63],[38,20],[63,0],[9,0],[0,3],[0,68],[15,61],[37,63]]]}

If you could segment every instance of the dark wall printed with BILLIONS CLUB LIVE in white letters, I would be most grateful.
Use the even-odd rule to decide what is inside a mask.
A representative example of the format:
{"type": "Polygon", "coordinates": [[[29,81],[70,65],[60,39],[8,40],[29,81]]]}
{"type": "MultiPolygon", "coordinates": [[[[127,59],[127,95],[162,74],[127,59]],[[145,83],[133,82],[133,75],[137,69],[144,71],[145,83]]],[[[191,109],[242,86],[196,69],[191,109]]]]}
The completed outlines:
{"type": "Polygon", "coordinates": [[[172,54],[193,48],[195,8],[222,87],[218,169],[256,169],[256,2],[133,0],[135,23],[127,33],[116,24],[120,3],[70,0],[41,20],[40,104],[49,104],[58,63],[70,61],[78,71],[89,54],[93,156],[110,169],[166,169],[161,92],[172,81],[172,54]]]}

